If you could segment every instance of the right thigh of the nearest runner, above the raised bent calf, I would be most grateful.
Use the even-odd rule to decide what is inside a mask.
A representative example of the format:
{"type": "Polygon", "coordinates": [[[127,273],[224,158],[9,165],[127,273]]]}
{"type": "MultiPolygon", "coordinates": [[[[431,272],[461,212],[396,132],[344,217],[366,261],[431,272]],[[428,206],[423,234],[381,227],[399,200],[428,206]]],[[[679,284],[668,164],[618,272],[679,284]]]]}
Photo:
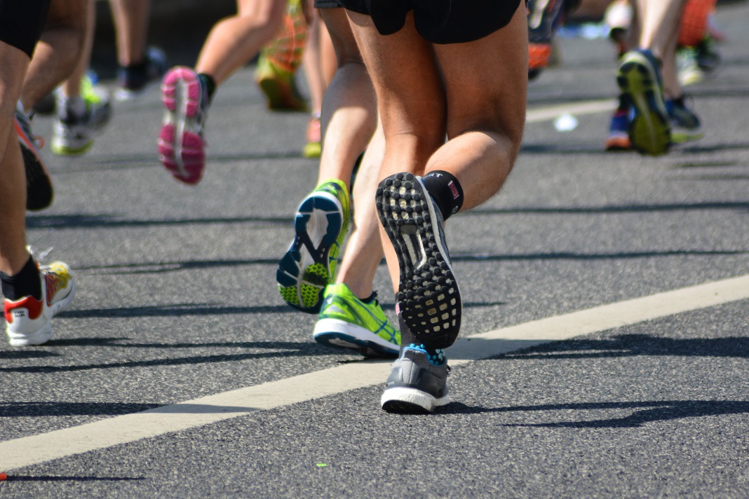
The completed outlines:
{"type": "Polygon", "coordinates": [[[447,96],[450,138],[501,129],[521,139],[526,112],[528,34],[525,5],[509,24],[479,40],[435,45],[447,96]]]}

